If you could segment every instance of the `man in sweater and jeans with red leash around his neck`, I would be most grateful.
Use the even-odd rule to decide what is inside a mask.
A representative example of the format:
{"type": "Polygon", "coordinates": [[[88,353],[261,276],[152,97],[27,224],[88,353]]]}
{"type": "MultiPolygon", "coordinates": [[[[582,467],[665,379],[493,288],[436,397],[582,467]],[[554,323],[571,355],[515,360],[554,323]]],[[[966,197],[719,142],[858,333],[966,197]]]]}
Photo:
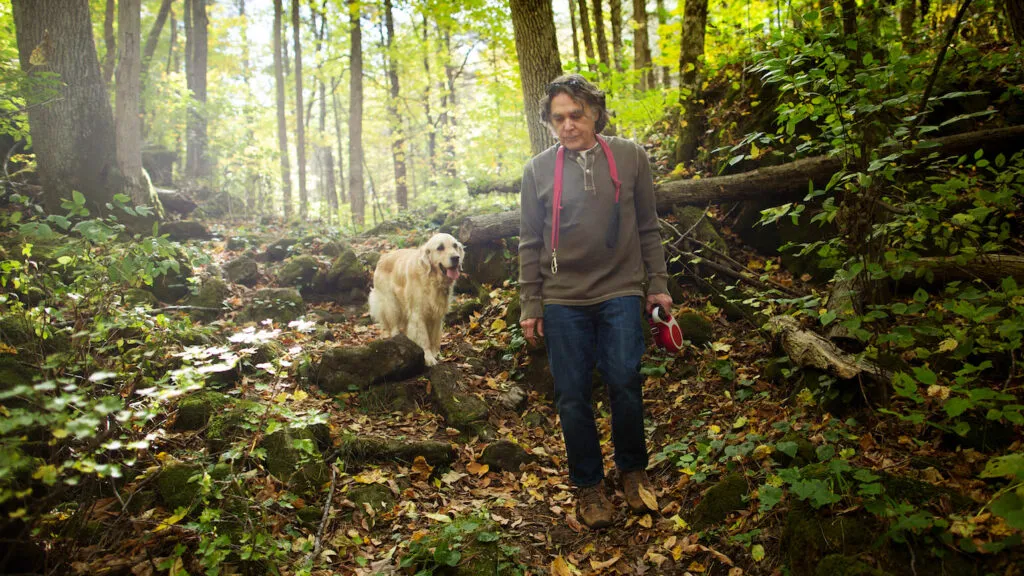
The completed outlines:
{"type": "Polygon", "coordinates": [[[671,310],[672,298],[650,164],[636,143],[598,135],[608,123],[604,93],[580,75],[561,76],[548,85],[541,117],[559,143],[530,159],[522,177],[519,324],[530,343],[545,338],[577,515],[602,528],[614,508],[605,494],[591,372],[596,365],[608,387],[626,502],[642,513],[643,496],[653,499],[640,374],[644,280],[648,313],[671,310]]]}

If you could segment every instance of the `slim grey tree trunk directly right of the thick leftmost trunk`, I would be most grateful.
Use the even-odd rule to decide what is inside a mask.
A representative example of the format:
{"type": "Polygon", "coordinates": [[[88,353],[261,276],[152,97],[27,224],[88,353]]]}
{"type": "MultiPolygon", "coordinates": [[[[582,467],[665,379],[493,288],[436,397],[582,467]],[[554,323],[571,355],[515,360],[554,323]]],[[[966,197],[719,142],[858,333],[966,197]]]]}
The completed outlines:
{"type": "Polygon", "coordinates": [[[152,204],[150,187],[142,177],[142,122],[139,119],[139,94],[142,88],[141,2],[118,2],[118,58],[116,88],[117,110],[114,126],[117,133],[117,158],[125,178],[125,193],[136,206],[152,204]]]}

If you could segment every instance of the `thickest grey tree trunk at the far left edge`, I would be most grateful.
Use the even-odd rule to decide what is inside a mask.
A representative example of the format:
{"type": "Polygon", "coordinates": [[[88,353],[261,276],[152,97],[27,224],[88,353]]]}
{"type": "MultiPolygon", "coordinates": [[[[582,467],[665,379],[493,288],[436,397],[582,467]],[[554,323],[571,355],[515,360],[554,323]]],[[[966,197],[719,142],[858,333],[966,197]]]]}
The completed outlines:
{"type": "Polygon", "coordinates": [[[12,8],[22,70],[60,78],[58,97],[28,107],[45,204],[62,213],[60,201],[77,191],[94,214],[106,213],[123,183],[88,0],[13,0],[12,8]]]}

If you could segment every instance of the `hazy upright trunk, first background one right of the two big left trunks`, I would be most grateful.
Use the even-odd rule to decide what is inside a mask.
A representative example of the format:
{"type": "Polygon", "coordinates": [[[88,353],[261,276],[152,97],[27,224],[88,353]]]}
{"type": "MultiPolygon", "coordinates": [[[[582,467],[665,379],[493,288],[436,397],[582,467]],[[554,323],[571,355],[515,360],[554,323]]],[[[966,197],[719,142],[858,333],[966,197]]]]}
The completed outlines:
{"type": "Polygon", "coordinates": [[[185,50],[185,76],[193,101],[188,107],[185,177],[190,181],[210,183],[211,166],[207,157],[208,137],[206,133],[206,68],[207,68],[207,0],[191,0],[190,34],[187,42],[191,46],[185,50]]]}

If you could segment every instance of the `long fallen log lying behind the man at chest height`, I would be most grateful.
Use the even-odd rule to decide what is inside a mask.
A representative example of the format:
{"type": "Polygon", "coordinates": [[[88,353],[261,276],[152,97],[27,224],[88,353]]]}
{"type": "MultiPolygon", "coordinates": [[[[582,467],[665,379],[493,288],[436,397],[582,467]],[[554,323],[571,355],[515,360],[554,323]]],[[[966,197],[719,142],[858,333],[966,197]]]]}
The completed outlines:
{"type": "MultiPolygon", "coordinates": [[[[921,160],[936,152],[942,156],[961,156],[984,149],[986,154],[992,156],[1022,148],[1024,126],[1013,126],[936,138],[919,146],[901,161],[921,160]]],[[[670,180],[655,184],[654,196],[659,213],[671,212],[679,204],[706,206],[745,200],[771,200],[783,204],[806,196],[809,181],[815,188],[825,187],[833,174],[842,168],[840,159],[816,156],[728,176],[670,180]]],[[[474,244],[518,234],[519,211],[511,210],[466,218],[459,231],[459,239],[466,244],[474,244]]]]}

